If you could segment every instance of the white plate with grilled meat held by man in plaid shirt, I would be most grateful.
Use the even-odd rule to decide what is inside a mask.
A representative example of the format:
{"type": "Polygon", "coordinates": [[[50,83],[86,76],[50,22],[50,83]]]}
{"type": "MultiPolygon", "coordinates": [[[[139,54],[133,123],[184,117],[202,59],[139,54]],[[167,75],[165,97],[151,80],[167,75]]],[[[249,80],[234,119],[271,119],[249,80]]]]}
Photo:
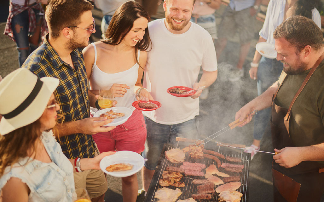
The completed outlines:
{"type": "Polygon", "coordinates": [[[129,119],[129,117],[132,116],[133,111],[127,107],[111,107],[97,111],[93,115],[93,117],[107,117],[108,115],[106,113],[112,113],[113,115],[118,116],[119,118],[115,118],[113,122],[108,123],[104,126],[118,126],[126,122],[129,119]]]}

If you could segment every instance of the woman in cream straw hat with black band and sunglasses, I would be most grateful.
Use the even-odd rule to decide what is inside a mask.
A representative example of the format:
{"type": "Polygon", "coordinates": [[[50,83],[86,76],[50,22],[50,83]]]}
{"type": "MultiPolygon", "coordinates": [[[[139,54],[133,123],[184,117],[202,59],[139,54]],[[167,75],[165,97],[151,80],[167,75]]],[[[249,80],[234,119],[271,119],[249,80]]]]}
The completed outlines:
{"type": "Polygon", "coordinates": [[[73,172],[100,169],[94,158],[67,159],[52,133],[59,80],[17,69],[0,82],[0,190],[2,201],[72,201],[73,172]]]}

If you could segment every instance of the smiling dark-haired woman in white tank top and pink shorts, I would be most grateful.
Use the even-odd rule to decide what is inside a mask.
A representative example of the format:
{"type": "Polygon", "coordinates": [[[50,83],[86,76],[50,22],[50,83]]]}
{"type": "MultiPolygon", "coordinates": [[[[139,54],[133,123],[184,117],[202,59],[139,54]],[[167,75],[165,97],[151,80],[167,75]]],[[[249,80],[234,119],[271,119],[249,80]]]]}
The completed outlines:
{"type": "MultiPolygon", "coordinates": [[[[146,50],[151,40],[148,35],[148,13],[135,1],[121,5],[112,16],[106,38],[92,43],[83,50],[91,92],[98,95],[103,86],[112,86],[116,106],[133,110],[123,124],[107,133],[93,135],[100,152],[129,150],[141,153],[146,140],[146,125],[141,111],[132,103],[134,93],[153,100],[141,84],[146,50]]],[[[138,184],[136,174],[122,178],[124,202],[135,202],[138,184]]]]}

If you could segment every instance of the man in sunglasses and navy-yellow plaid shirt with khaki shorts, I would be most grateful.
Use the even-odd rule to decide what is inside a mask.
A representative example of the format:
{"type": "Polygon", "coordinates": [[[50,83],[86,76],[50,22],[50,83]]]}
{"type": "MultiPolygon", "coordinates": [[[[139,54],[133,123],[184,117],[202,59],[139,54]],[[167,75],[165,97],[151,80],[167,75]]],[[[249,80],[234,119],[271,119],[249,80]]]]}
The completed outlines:
{"type": "MultiPolygon", "coordinates": [[[[90,106],[95,107],[97,99],[88,92],[82,48],[95,32],[92,9],[93,5],[86,0],[51,0],[45,14],[49,34],[22,66],[40,78],[50,76],[60,80],[54,91],[64,115],[63,124],[57,127],[58,142],[69,159],[95,157],[98,149],[92,134],[115,128],[101,127],[113,120],[89,117],[90,106]]],[[[87,189],[93,202],[103,202],[108,186],[101,170],[75,173],[74,181],[75,188],[87,189]]]]}

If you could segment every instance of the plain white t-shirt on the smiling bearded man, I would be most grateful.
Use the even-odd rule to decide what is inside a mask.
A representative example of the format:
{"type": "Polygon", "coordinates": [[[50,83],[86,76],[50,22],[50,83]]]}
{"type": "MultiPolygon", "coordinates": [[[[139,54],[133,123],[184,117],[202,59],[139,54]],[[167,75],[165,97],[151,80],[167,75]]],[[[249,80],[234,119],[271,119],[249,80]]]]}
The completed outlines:
{"type": "Polygon", "coordinates": [[[197,82],[200,67],[205,71],[217,70],[217,59],[213,39],[199,25],[183,34],[172,34],[157,19],[148,24],[152,50],[147,53],[144,73],[144,88],[162,106],[145,116],[161,124],[178,124],[199,115],[199,99],[175,97],[167,93],[172,86],[187,86],[197,82]]]}

